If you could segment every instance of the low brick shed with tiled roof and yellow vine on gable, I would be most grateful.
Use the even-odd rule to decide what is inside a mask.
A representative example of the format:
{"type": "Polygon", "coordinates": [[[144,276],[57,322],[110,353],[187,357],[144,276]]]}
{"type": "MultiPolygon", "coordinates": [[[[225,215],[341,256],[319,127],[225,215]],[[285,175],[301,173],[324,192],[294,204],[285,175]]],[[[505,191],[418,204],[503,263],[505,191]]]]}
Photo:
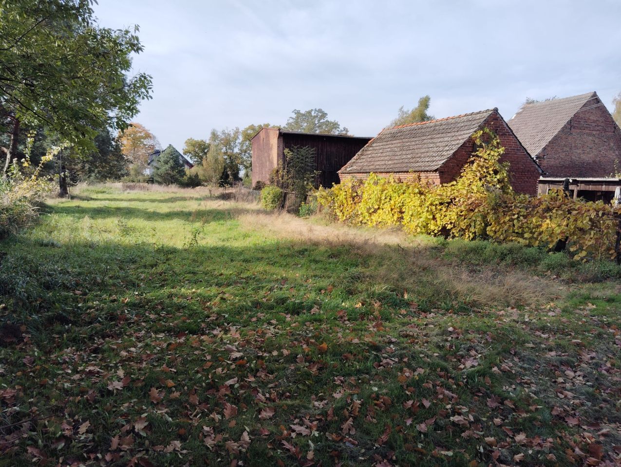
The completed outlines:
{"type": "Polygon", "coordinates": [[[484,127],[494,131],[505,148],[501,161],[510,164],[514,189],[536,195],[542,170],[498,109],[384,128],[339,171],[339,175],[341,179],[366,179],[373,172],[399,180],[420,177],[434,184],[451,182],[475,151],[472,134],[484,127]]]}

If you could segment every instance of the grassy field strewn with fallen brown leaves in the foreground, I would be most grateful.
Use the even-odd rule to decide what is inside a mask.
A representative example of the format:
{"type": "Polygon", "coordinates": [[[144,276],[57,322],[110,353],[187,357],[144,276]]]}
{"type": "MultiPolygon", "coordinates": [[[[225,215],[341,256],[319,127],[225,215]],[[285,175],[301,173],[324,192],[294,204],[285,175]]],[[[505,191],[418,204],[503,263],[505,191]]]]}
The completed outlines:
{"type": "Polygon", "coordinates": [[[616,265],[220,198],[0,242],[0,466],[619,463],[616,265]]]}

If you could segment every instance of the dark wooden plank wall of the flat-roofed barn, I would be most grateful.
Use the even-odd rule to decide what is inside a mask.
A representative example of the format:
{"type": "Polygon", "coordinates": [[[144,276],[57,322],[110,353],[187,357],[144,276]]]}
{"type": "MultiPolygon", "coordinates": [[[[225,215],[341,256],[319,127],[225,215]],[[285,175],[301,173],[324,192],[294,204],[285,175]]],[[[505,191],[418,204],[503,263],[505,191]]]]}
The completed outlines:
{"type": "Polygon", "coordinates": [[[339,138],[330,135],[295,135],[283,133],[283,149],[293,146],[315,148],[317,156],[317,186],[332,187],[339,183],[338,171],[362,149],[371,138],[339,138]]]}

